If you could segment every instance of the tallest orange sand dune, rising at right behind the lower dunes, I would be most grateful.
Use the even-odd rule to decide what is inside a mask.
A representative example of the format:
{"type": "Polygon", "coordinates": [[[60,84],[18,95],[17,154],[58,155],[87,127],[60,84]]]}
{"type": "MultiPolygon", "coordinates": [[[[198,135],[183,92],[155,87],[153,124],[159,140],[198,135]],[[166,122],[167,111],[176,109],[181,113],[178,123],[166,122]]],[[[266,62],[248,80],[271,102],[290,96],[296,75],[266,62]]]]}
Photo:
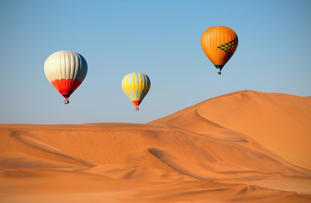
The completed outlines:
{"type": "Polygon", "coordinates": [[[241,91],[203,101],[151,123],[220,134],[220,139],[243,140],[246,135],[244,140],[251,138],[289,162],[311,170],[311,157],[306,157],[311,154],[310,115],[310,97],[241,91]],[[222,133],[215,133],[219,131],[222,133]]]}

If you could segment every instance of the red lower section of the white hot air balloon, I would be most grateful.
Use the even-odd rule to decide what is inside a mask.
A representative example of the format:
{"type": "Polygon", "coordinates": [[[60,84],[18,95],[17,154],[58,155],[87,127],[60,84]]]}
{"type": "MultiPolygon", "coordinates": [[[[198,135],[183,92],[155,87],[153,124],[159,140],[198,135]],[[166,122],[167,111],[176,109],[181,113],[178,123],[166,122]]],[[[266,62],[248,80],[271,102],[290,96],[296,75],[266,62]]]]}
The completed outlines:
{"type": "Polygon", "coordinates": [[[82,82],[75,79],[61,79],[61,80],[54,80],[51,84],[54,88],[61,93],[66,99],[70,97],[73,92],[79,87],[82,82]]]}

